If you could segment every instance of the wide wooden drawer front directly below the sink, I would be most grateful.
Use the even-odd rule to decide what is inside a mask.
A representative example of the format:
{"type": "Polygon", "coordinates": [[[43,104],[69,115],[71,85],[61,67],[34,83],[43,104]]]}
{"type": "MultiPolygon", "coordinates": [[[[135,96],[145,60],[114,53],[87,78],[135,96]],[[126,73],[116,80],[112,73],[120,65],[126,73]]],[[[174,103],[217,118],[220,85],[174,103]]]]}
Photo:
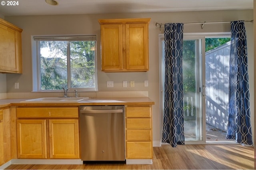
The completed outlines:
{"type": "Polygon", "coordinates": [[[78,107],[18,107],[17,118],[78,118],[78,107]]]}

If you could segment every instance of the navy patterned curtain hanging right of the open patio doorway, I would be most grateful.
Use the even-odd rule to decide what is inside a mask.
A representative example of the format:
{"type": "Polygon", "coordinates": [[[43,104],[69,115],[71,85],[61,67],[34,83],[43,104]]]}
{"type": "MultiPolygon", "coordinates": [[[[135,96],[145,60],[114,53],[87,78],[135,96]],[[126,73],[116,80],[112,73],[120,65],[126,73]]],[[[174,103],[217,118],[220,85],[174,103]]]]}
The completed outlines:
{"type": "Polygon", "coordinates": [[[246,31],[244,21],[231,22],[228,139],[252,145],[246,31]]]}

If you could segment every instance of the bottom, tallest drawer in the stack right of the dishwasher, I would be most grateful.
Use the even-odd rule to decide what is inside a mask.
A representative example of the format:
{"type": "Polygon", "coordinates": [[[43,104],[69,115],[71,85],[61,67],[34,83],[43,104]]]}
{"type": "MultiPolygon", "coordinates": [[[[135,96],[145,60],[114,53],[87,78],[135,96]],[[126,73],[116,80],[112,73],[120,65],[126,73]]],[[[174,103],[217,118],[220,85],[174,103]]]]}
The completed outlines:
{"type": "Polygon", "coordinates": [[[151,142],[126,142],[127,159],[152,159],[151,142]]]}

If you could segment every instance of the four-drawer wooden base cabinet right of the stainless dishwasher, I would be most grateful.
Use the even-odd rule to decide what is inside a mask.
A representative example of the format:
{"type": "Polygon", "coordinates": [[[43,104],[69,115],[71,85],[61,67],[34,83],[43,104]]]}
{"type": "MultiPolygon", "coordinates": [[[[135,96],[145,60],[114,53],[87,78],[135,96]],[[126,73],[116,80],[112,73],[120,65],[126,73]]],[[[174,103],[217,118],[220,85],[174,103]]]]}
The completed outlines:
{"type": "Polygon", "coordinates": [[[126,107],[126,159],[152,159],[152,108],[126,107]]]}

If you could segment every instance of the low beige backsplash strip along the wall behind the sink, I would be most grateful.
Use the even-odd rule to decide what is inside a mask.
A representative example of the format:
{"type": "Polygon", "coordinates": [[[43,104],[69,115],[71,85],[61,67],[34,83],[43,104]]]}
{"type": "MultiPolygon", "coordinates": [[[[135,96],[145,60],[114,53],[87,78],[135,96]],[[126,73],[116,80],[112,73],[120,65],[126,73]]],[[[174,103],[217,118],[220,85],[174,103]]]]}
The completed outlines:
{"type": "MultiPolygon", "coordinates": [[[[63,92],[0,93],[0,99],[36,99],[41,97],[63,97],[63,96],[64,96],[63,92]]],[[[69,91],[67,96],[75,97],[75,93],[73,91],[69,91]]],[[[90,97],[90,98],[148,97],[148,91],[100,91],[100,92],[79,92],[78,91],[78,97],[90,97]]]]}

